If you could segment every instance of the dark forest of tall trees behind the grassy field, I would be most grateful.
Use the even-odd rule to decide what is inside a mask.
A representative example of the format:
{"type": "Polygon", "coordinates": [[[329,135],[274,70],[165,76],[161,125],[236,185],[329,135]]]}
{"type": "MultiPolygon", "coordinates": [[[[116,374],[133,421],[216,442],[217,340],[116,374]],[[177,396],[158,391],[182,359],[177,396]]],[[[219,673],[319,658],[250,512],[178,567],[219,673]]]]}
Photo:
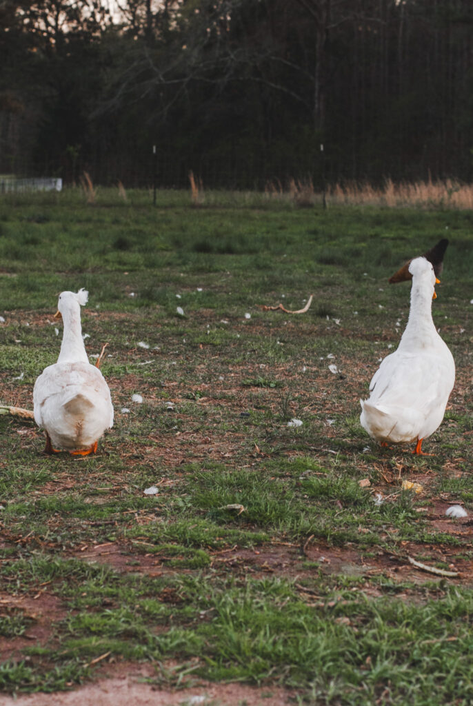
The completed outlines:
{"type": "Polygon", "coordinates": [[[0,173],[146,186],[156,145],[160,186],[473,177],[472,0],[120,8],[0,0],[0,173]]]}

